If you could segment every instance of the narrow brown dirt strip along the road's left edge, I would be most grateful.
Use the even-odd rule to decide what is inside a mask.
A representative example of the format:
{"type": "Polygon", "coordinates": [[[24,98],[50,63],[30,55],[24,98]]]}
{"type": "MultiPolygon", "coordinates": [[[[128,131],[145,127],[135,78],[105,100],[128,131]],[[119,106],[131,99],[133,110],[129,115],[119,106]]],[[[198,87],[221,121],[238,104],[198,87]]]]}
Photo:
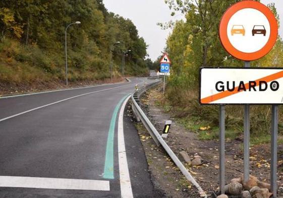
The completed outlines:
{"type": "Polygon", "coordinates": [[[7,84],[0,82],[0,97],[8,96],[8,95],[17,95],[17,94],[25,94],[25,93],[34,93],[39,91],[50,91],[57,89],[67,89],[67,88],[76,88],[76,87],[84,87],[84,86],[93,86],[100,85],[106,83],[118,83],[123,82],[123,78],[115,78],[111,82],[109,79],[105,81],[77,81],[77,82],[69,82],[69,86],[65,85],[65,81],[49,81],[49,82],[34,82],[32,84],[7,84]]]}

